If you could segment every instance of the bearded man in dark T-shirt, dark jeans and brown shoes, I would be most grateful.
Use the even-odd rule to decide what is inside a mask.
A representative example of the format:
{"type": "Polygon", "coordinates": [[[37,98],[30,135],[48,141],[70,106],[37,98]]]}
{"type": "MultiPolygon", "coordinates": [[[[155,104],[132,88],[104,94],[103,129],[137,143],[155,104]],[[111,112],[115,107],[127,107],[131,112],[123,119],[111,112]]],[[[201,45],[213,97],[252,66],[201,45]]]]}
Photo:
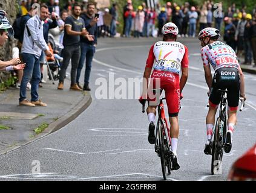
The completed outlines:
{"type": "MultiPolygon", "coordinates": [[[[77,66],[80,59],[80,36],[88,37],[88,32],[85,29],[84,20],[80,18],[81,7],[79,4],[74,4],[72,16],[68,16],[65,20],[65,30],[63,45],[63,63],[59,72],[59,86],[57,89],[64,89],[64,78],[71,59],[71,85],[70,90],[81,91],[76,84],[77,66]]],[[[88,37],[89,38],[89,37],[88,37]]]]}

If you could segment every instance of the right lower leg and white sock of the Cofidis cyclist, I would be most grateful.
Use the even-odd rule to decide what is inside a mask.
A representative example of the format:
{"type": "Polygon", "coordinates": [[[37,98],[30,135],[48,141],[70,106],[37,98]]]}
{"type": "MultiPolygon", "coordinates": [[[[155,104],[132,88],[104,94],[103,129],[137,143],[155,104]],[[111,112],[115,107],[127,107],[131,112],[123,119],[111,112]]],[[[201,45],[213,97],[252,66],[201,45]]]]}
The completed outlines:
{"type": "Polygon", "coordinates": [[[177,155],[177,146],[179,138],[179,122],[178,116],[169,117],[170,121],[170,136],[171,136],[171,148],[172,152],[177,155]]]}

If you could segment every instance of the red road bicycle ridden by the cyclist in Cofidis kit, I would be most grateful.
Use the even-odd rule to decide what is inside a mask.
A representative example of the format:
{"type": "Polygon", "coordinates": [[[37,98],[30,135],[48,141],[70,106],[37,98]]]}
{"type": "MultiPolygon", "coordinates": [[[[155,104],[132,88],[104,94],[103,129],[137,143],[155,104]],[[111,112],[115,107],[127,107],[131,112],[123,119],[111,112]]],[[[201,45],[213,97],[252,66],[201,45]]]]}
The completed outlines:
{"type": "MultiPolygon", "coordinates": [[[[162,89],[157,89],[162,92],[162,89]]],[[[153,92],[157,91],[153,89],[153,92]]],[[[172,170],[172,151],[171,151],[171,137],[169,136],[168,122],[165,117],[165,109],[163,106],[163,100],[165,97],[160,96],[159,103],[157,105],[158,120],[156,124],[156,142],[155,152],[160,157],[163,179],[166,180],[166,174],[171,174],[172,170]]],[[[146,102],[146,100],[145,100],[146,102]]],[[[142,112],[145,112],[145,103],[142,104],[142,112]]]]}

